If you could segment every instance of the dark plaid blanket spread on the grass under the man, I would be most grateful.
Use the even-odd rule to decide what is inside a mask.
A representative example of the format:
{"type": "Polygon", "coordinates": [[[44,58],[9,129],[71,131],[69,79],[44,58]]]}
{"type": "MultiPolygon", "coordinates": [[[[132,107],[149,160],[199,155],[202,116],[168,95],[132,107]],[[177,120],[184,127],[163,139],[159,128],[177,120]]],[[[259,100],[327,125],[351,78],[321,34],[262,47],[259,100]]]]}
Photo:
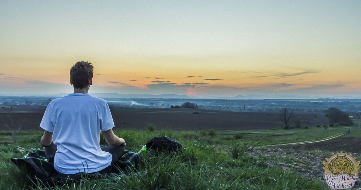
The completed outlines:
{"type": "Polygon", "coordinates": [[[34,150],[27,153],[22,158],[12,158],[14,164],[16,164],[20,169],[29,176],[30,180],[33,182],[40,182],[44,185],[53,185],[53,184],[64,184],[67,181],[78,180],[81,177],[97,178],[97,177],[111,177],[119,178],[121,175],[129,174],[129,172],[138,173],[138,168],[140,164],[139,156],[137,153],[132,151],[124,151],[123,156],[113,164],[112,173],[76,173],[69,176],[64,176],[59,174],[54,169],[54,166],[51,162],[45,158],[44,150],[34,150]]]}

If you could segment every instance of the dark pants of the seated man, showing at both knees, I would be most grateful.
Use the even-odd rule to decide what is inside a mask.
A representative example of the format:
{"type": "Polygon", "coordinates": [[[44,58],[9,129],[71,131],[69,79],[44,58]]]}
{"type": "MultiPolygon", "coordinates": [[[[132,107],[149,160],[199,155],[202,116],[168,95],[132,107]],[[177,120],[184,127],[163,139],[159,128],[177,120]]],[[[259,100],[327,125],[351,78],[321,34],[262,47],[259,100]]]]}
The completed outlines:
{"type": "MultiPolygon", "coordinates": [[[[106,145],[105,147],[100,148],[102,151],[109,152],[112,154],[112,164],[114,164],[119,158],[123,156],[124,152],[124,145],[106,145]]],[[[53,162],[53,157],[55,155],[55,152],[57,151],[56,145],[51,142],[51,144],[48,147],[45,147],[45,157],[49,162],[53,162]]],[[[103,170],[99,171],[99,173],[107,173],[112,170],[112,166],[108,166],[104,168],[103,170]]]]}

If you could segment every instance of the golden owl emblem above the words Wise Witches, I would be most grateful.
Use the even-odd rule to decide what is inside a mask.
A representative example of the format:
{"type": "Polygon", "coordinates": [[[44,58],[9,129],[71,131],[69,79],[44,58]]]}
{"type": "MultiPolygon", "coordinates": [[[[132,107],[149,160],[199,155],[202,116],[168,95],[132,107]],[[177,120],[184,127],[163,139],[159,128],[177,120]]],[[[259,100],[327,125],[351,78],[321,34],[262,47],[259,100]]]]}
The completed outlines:
{"type": "Polygon", "coordinates": [[[325,173],[334,174],[334,176],[348,174],[348,176],[355,175],[356,177],[360,169],[360,161],[356,162],[356,159],[347,153],[341,152],[326,158],[326,160],[323,161],[323,169],[325,169],[325,173]]]}

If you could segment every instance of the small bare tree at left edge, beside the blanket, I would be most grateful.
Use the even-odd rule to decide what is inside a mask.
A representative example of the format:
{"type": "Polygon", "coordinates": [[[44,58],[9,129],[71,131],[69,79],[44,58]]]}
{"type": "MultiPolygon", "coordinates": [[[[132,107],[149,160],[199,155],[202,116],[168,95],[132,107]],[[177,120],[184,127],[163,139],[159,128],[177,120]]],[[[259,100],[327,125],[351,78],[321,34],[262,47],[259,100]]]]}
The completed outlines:
{"type": "Polygon", "coordinates": [[[5,126],[9,128],[11,135],[13,136],[13,143],[16,143],[18,132],[20,131],[21,126],[24,124],[25,118],[23,118],[21,122],[15,121],[14,115],[12,113],[13,107],[3,107],[3,109],[5,111],[6,119],[0,117],[1,121],[3,121],[5,126]]]}

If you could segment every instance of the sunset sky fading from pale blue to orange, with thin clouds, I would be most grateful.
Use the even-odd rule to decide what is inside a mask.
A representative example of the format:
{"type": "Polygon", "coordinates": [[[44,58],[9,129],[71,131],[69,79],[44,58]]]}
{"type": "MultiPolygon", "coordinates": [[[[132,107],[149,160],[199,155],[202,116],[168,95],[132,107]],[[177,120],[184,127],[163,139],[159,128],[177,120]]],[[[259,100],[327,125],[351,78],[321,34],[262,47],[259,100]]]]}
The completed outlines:
{"type": "Polygon", "coordinates": [[[0,0],[0,94],[361,97],[361,1],[0,0]]]}

